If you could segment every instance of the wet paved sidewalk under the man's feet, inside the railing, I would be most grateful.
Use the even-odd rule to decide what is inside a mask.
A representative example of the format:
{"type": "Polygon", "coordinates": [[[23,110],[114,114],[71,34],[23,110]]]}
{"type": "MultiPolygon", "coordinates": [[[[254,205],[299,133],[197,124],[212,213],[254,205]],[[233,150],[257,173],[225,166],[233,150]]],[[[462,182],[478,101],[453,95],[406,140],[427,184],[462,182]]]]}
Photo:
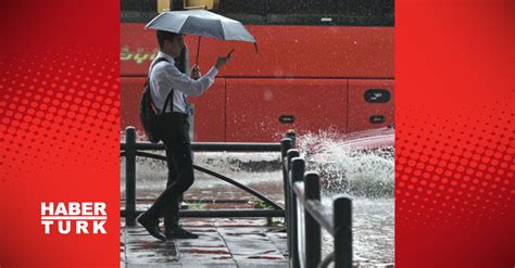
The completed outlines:
{"type": "Polygon", "coordinates": [[[121,267],[288,267],[286,232],[265,219],[186,218],[199,239],[169,242],[124,221],[121,267]]]}

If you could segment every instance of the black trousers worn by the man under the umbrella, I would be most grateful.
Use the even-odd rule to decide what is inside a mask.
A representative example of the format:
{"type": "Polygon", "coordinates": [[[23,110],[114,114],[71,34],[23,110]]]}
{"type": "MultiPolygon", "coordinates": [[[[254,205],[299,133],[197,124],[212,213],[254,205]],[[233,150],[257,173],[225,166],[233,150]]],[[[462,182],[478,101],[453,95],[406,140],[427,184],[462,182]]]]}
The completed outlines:
{"type": "Polygon", "coordinates": [[[180,113],[162,115],[162,140],[166,146],[168,181],[166,190],[149,208],[153,217],[165,217],[166,229],[178,225],[179,200],[194,181],[188,116],[180,113]]]}

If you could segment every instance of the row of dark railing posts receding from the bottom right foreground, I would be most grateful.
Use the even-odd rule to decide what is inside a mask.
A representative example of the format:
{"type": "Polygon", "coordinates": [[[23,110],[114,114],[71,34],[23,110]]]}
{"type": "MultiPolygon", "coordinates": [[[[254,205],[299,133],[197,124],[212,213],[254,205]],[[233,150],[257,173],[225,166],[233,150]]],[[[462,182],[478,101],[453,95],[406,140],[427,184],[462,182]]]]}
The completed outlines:
{"type": "Polygon", "coordinates": [[[337,197],[332,210],[321,202],[317,173],[305,173],[294,133],[281,140],[288,252],[291,267],[352,267],[352,203],[337,197]],[[322,259],[322,229],[334,238],[334,252],[322,259]]]}

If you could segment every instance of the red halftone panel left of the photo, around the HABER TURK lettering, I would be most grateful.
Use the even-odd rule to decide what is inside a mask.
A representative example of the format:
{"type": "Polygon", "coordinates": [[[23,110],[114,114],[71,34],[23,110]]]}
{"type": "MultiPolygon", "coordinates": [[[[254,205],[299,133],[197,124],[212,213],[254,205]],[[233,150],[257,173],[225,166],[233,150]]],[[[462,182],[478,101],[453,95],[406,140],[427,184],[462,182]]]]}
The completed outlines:
{"type": "Polygon", "coordinates": [[[120,265],[118,1],[2,1],[0,266],[120,265]],[[40,202],[105,202],[108,234],[50,234],[40,202]]]}

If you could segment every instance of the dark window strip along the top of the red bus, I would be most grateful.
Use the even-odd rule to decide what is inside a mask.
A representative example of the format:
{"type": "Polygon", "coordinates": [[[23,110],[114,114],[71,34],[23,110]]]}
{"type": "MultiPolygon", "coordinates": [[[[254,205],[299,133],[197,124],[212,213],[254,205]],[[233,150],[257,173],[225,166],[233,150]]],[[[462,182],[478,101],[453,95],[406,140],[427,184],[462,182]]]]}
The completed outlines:
{"type": "MultiPolygon", "coordinates": [[[[201,2],[201,1],[197,1],[201,2]]],[[[196,1],[186,1],[197,4],[196,1]]],[[[160,0],[122,0],[122,23],[148,23],[160,0]]],[[[393,0],[216,0],[216,13],[255,25],[393,26],[393,0]]]]}

